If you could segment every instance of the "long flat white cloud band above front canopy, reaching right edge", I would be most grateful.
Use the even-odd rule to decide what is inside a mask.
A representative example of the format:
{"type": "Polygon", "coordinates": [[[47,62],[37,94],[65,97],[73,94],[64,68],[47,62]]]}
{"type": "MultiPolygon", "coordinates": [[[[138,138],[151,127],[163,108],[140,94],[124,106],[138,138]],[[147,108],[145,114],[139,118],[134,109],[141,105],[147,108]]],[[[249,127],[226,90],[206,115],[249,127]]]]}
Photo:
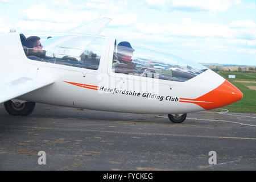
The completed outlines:
{"type": "Polygon", "coordinates": [[[199,23],[185,18],[181,23],[172,24],[146,24],[137,23],[134,29],[143,34],[161,34],[164,36],[188,36],[188,37],[216,37],[226,39],[255,39],[255,28],[246,30],[243,28],[230,28],[217,23],[199,23]]]}

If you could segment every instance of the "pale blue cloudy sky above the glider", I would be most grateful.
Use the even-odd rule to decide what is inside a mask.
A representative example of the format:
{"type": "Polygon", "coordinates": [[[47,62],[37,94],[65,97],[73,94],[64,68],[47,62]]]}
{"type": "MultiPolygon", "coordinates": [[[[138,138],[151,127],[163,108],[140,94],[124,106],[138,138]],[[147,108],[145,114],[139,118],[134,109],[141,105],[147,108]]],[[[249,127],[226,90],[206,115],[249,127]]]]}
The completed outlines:
{"type": "Polygon", "coordinates": [[[0,34],[65,32],[111,18],[102,35],[197,63],[256,66],[256,0],[0,0],[0,34]]]}

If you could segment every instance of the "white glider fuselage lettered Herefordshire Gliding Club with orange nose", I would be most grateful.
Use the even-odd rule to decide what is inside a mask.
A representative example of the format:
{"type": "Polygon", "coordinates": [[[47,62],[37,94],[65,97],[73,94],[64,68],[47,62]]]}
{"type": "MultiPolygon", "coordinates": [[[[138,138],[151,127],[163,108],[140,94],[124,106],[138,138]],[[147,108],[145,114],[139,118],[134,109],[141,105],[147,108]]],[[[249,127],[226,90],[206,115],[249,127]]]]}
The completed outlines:
{"type": "Polygon", "coordinates": [[[214,109],[242,98],[240,90],[210,69],[187,81],[115,73],[114,44],[115,39],[105,38],[98,69],[86,69],[28,59],[18,33],[1,35],[0,71],[11,68],[13,75],[26,72],[49,80],[47,86],[20,95],[19,100],[82,109],[178,114],[214,109]]]}

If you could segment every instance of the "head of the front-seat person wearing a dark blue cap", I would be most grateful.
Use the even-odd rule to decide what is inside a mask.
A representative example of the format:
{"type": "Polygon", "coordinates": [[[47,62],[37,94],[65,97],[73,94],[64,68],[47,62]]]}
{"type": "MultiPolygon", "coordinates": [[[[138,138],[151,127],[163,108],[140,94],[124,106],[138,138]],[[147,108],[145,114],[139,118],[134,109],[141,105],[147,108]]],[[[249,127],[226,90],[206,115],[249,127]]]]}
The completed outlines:
{"type": "Polygon", "coordinates": [[[135,50],[131,47],[129,42],[120,42],[117,45],[117,53],[121,60],[131,62],[131,57],[133,56],[133,52],[135,50]]]}

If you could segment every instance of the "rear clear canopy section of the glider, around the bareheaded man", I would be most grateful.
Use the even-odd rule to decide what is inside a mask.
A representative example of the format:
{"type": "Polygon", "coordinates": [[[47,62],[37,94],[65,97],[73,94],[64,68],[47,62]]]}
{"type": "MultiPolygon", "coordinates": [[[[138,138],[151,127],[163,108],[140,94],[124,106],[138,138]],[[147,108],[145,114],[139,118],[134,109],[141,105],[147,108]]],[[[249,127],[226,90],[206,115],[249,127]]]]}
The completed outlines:
{"type": "Polygon", "coordinates": [[[39,35],[42,51],[27,45],[27,38],[20,34],[23,50],[28,59],[53,64],[97,70],[105,38],[75,34],[60,34],[55,37],[39,35]]]}

